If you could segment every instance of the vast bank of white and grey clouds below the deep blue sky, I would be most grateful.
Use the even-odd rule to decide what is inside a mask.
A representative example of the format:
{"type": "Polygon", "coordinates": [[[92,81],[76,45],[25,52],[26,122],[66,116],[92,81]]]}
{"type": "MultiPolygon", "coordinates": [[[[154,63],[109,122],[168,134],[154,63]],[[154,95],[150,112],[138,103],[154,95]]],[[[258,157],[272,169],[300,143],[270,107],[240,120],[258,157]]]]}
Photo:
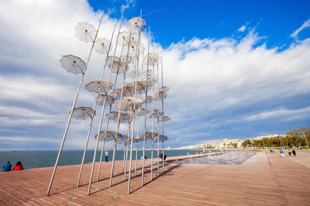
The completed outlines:
{"type": "MultiPolygon", "coordinates": [[[[129,3],[134,4],[133,1],[129,3]]],[[[77,38],[64,39],[75,35],[74,28],[79,22],[87,21],[96,28],[101,11],[93,12],[87,1],[7,1],[2,4],[6,9],[0,12],[0,26],[3,28],[0,30],[0,104],[5,111],[0,119],[0,131],[4,133],[1,136],[9,138],[11,131],[18,127],[20,138],[27,139],[31,135],[32,138],[50,138],[53,141],[48,147],[58,148],[71,106],[60,110],[73,101],[77,87],[48,104],[45,102],[81,78],[81,75],[66,74],[59,59],[68,54],[85,59],[91,47],[91,43],[86,44],[77,38]],[[75,9],[71,9],[73,4],[75,9]],[[40,9],[33,9],[34,6],[40,9]],[[27,18],[21,19],[20,16],[27,18]]],[[[104,15],[100,28],[112,27],[118,24],[117,21],[104,15]]],[[[126,25],[126,20],[124,22],[126,25]]],[[[126,30],[125,25],[121,31],[126,30]]],[[[246,26],[243,31],[245,29],[246,26]]],[[[112,32],[113,28],[100,30],[99,37],[110,39],[112,32]]],[[[255,128],[249,124],[260,120],[268,122],[274,114],[281,113],[277,117],[286,118],[286,125],[295,124],[297,118],[302,123],[309,120],[309,105],[305,100],[309,100],[306,97],[309,97],[310,85],[310,40],[305,39],[282,52],[277,48],[269,49],[265,44],[254,47],[263,40],[250,30],[240,41],[233,37],[193,38],[165,49],[157,44],[159,51],[171,49],[160,53],[163,67],[169,67],[164,69],[164,78],[180,76],[164,79],[164,84],[171,88],[165,99],[165,114],[172,117],[171,121],[165,122],[165,135],[169,137],[167,144],[197,144],[204,139],[221,139],[224,134],[236,136],[237,133],[240,138],[246,137],[250,132],[259,133],[268,126],[261,123],[262,128],[255,128]],[[303,103],[299,102],[301,97],[305,97],[303,103]],[[298,108],[293,108],[297,103],[298,108]],[[240,119],[242,121],[238,121],[240,119]],[[245,127],[248,133],[244,132],[245,127]]],[[[142,43],[147,48],[146,34],[142,43]]],[[[116,55],[119,54],[120,48],[116,55]]],[[[85,77],[98,73],[103,64],[104,55],[93,53],[85,77]]],[[[104,76],[106,79],[107,72],[104,76]]],[[[100,74],[85,80],[79,97],[87,93],[85,84],[98,78],[100,74]]],[[[94,98],[95,94],[89,93],[79,99],[76,106],[85,105],[94,98]]],[[[87,106],[93,107],[94,103],[87,106]]],[[[90,149],[95,145],[94,135],[101,109],[97,106],[90,149]]],[[[82,121],[72,119],[65,148],[83,149],[88,124],[89,120],[86,120],[81,127],[82,121]]],[[[139,134],[143,131],[142,125],[139,134]]],[[[150,118],[147,125],[150,130],[150,118]]],[[[157,128],[156,121],[154,125],[157,128]]],[[[102,128],[105,126],[104,123],[102,128]]],[[[114,122],[110,126],[109,129],[115,129],[114,122]]],[[[121,130],[125,132],[126,128],[122,125],[121,130]]],[[[265,130],[269,131],[268,128],[265,130]]],[[[7,139],[0,139],[1,147],[13,147],[7,144],[7,139]]]]}

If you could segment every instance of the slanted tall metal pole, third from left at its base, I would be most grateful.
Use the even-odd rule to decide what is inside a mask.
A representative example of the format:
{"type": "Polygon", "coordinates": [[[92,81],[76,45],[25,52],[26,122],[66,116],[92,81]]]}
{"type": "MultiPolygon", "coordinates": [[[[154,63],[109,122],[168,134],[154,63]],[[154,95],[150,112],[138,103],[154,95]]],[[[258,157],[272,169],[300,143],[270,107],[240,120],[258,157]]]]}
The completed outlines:
{"type": "MultiPolygon", "coordinates": [[[[121,18],[121,23],[120,23],[120,26],[119,26],[118,34],[119,34],[120,30],[121,30],[123,15],[124,15],[124,12],[122,13],[122,18],[121,18]]],[[[112,58],[111,71],[110,71],[110,74],[109,74],[108,81],[110,81],[110,78],[111,78],[112,66],[113,66],[114,57],[115,57],[115,53],[116,53],[116,49],[117,49],[118,37],[119,37],[119,35],[117,35],[117,41],[116,41],[116,46],[115,46],[115,50],[114,50],[114,54],[113,54],[113,58],[112,58]]],[[[105,92],[105,94],[108,95],[107,91],[105,92]]],[[[100,132],[101,132],[102,121],[103,121],[103,117],[104,117],[104,108],[105,108],[106,99],[107,99],[107,96],[104,97],[104,103],[103,103],[103,108],[102,108],[101,118],[100,118],[100,123],[99,123],[99,128],[98,128],[98,135],[97,135],[98,138],[97,138],[96,146],[95,146],[95,153],[94,153],[93,164],[92,164],[92,167],[91,167],[91,176],[90,176],[90,180],[89,180],[87,195],[89,195],[90,191],[91,191],[91,182],[92,182],[94,168],[95,168],[97,148],[98,148],[98,144],[99,144],[99,137],[100,137],[100,132]]]]}

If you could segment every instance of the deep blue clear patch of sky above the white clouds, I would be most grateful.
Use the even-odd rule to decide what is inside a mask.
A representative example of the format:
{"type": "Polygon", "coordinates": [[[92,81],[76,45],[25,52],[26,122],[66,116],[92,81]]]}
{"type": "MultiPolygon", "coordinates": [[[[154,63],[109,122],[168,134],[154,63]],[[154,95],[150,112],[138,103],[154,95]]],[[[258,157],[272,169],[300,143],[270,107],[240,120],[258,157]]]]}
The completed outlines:
{"type": "MultiPolygon", "coordinates": [[[[129,1],[128,1],[129,2],[129,1]]],[[[106,8],[111,17],[119,18],[120,9],[126,2],[120,0],[95,1],[90,5],[96,11],[106,8]],[[104,5],[103,5],[104,4],[104,5]]],[[[146,15],[144,18],[153,32],[159,33],[156,41],[164,46],[172,42],[185,41],[197,38],[223,38],[234,36],[243,37],[236,32],[242,25],[247,29],[254,28],[260,36],[267,37],[267,46],[290,45],[293,41],[290,34],[301,26],[301,23],[310,18],[309,1],[132,1],[128,3],[130,9],[125,11],[126,17],[164,10],[146,15]],[[134,7],[132,7],[135,5],[134,7]]],[[[299,39],[308,38],[309,29],[299,33],[299,39]]]]}

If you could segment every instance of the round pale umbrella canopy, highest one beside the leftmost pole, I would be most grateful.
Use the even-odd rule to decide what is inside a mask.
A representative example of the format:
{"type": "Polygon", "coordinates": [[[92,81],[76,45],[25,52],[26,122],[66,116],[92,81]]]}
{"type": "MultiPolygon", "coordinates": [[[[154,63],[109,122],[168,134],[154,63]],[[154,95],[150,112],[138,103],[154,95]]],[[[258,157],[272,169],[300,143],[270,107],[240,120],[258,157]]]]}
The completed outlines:
{"type": "Polygon", "coordinates": [[[75,35],[86,43],[95,41],[96,32],[95,27],[87,22],[78,23],[78,26],[75,28],[75,35]]]}

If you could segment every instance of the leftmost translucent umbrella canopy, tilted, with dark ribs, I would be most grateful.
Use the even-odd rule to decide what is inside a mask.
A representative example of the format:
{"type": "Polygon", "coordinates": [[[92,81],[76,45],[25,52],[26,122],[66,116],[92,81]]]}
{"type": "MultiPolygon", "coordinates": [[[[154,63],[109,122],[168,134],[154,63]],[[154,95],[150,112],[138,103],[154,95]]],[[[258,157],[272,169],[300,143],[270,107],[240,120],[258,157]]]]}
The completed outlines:
{"type": "Polygon", "coordinates": [[[82,74],[86,67],[86,63],[81,58],[71,54],[62,56],[59,61],[62,68],[73,74],[82,74]]]}

